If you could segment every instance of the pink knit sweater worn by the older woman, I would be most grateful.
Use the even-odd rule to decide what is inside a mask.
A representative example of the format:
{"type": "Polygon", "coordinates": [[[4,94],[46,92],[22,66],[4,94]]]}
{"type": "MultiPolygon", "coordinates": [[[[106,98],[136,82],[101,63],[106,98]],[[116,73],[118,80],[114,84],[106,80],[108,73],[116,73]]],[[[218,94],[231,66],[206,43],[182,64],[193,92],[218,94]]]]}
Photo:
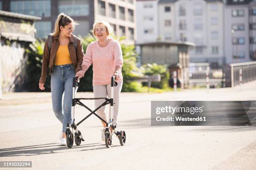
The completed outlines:
{"type": "MultiPolygon", "coordinates": [[[[86,49],[82,65],[87,68],[92,64],[92,85],[107,85],[111,83],[111,76],[115,72],[115,66],[123,66],[123,55],[120,43],[110,39],[105,47],[100,47],[98,41],[91,42],[86,49]]],[[[123,82],[121,73],[116,82],[123,82]]]]}

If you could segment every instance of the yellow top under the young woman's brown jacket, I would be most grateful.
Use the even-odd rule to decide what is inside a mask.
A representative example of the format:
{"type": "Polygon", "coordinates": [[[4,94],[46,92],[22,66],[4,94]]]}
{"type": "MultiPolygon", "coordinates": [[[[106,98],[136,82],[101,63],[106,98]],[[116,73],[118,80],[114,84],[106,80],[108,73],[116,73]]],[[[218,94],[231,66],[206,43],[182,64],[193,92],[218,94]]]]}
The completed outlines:
{"type": "Polygon", "coordinates": [[[54,65],[72,64],[68,45],[60,45],[54,58],[54,65]]]}

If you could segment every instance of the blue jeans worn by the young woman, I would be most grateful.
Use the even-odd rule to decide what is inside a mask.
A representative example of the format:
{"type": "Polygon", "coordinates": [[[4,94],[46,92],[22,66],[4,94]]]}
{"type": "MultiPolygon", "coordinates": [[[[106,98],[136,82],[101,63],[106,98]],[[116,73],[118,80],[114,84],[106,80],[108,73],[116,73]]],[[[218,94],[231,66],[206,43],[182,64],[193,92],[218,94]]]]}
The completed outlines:
{"type": "Polygon", "coordinates": [[[62,132],[66,132],[67,123],[71,124],[72,84],[75,76],[73,64],[54,65],[51,73],[51,100],[56,117],[62,123],[62,132]],[[64,92],[63,110],[62,95],[64,92]]]}

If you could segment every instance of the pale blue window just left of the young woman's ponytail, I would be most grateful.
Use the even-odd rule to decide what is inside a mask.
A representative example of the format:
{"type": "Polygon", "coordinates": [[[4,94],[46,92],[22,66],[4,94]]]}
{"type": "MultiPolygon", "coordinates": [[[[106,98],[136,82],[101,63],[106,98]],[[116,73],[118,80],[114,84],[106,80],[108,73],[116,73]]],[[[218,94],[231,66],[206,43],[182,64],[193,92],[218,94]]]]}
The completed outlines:
{"type": "Polygon", "coordinates": [[[36,38],[44,38],[51,32],[51,21],[35,21],[36,38]]]}

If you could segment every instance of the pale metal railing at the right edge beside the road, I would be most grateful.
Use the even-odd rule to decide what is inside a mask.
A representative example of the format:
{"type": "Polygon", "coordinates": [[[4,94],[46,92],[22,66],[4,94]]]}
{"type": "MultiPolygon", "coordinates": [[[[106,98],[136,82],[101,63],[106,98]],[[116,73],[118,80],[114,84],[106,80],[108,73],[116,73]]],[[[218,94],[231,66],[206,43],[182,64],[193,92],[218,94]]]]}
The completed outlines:
{"type": "Polygon", "coordinates": [[[230,64],[230,67],[231,67],[231,87],[234,87],[235,85],[239,85],[240,72],[242,72],[241,83],[256,80],[256,61],[234,63],[234,64],[230,64]]]}

